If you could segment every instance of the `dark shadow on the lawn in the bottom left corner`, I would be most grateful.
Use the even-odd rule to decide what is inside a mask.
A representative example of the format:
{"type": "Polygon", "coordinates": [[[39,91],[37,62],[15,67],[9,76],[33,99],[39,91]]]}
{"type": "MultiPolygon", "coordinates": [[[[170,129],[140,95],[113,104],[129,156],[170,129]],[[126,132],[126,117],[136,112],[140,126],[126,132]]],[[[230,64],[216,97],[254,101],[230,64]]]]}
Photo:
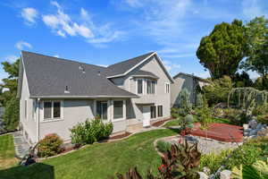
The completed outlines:
{"type": "Polygon", "coordinates": [[[47,178],[54,179],[54,166],[42,163],[36,163],[31,166],[14,166],[4,170],[0,170],[0,179],[38,179],[47,178]]]}

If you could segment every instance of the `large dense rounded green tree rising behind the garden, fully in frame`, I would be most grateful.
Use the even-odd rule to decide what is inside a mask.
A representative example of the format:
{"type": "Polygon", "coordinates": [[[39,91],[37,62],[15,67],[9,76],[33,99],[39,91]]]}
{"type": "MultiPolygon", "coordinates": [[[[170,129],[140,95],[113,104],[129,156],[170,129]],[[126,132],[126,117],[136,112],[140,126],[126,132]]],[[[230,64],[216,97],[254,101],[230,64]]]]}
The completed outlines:
{"type": "Polygon", "coordinates": [[[238,71],[247,50],[245,34],[242,21],[234,20],[215,25],[209,36],[201,39],[197,57],[213,79],[232,76],[238,71]]]}

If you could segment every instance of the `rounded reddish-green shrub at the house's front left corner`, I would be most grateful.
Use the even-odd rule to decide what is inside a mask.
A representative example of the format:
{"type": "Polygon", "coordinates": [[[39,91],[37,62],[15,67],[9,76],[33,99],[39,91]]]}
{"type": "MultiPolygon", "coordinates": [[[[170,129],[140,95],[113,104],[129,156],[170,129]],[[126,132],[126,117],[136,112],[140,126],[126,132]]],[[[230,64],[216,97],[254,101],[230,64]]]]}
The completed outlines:
{"type": "Polygon", "coordinates": [[[48,134],[43,140],[39,141],[38,156],[41,158],[54,156],[62,151],[62,144],[63,140],[57,134],[48,134]]]}

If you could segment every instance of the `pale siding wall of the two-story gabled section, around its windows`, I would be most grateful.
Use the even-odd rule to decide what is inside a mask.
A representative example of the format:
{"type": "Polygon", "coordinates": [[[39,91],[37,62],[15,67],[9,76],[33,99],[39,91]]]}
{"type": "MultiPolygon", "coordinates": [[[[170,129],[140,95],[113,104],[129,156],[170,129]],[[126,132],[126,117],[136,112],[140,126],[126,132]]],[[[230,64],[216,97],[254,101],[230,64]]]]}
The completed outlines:
{"type": "MultiPolygon", "coordinates": [[[[151,60],[148,60],[144,64],[141,64],[137,69],[130,72],[128,75],[115,78],[112,81],[114,84],[117,84],[119,81],[123,83],[121,86],[122,89],[128,90],[134,94],[137,94],[137,79],[133,78],[132,75],[135,74],[138,70],[153,72],[159,79],[156,81],[155,94],[147,94],[147,85],[144,83],[143,91],[145,94],[139,95],[139,98],[131,98],[127,100],[127,124],[138,124],[143,121],[142,114],[142,105],[138,104],[155,104],[155,106],[162,105],[163,106],[163,117],[168,118],[171,116],[171,85],[170,85],[170,93],[165,93],[165,83],[171,83],[170,79],[167,77],[163,68],[155,59],[152,57],[151,60]],[[123,81],[123,82],[122,82],[123,81]]],[[[157,114],[157,107],[156,107],[157,114]]],[[[155,119],[158,119],[157,117],[155,119]]],[[[152,120],[155,120],[152,119],[152,120]]]]}

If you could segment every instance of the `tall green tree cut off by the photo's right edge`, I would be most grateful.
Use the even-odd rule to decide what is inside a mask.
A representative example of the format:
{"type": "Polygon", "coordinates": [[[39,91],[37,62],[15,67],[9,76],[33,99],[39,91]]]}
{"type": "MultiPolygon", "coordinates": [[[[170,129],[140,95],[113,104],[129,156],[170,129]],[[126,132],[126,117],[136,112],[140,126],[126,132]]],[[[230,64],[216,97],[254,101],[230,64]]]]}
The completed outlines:
{"type": "MultiPolygon", "coordinates": [[[[255,71],[265,77],[268,74],[268,20],[264,16],[256,17],[249,21],[246,27],[247,59],[241,64],[241,68],[255,71]]],[[[263,78],[262,83],[263,86],[268,86],[268,79],[263,78]]]]}

